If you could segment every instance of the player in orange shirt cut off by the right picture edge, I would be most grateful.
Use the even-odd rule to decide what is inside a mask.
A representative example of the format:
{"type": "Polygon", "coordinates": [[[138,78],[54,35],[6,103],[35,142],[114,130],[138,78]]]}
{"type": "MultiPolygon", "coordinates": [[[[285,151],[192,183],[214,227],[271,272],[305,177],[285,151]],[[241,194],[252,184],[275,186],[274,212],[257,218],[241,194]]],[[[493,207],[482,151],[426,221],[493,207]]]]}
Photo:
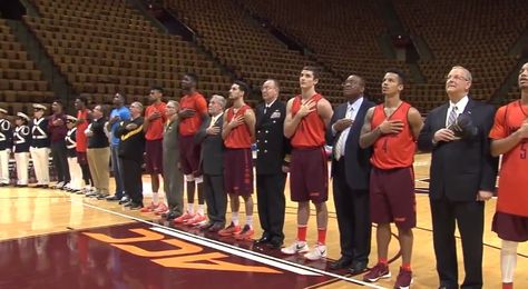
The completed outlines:
{"type": "Polygon", "coordinates": [[[517,247],[528,240],[528,62],[519,71],[519,88],[520,99],[499,108],[489,134],[491,155],[503,155],[492,225],[502,239],[502,288],[514,288],[517,247]]]}

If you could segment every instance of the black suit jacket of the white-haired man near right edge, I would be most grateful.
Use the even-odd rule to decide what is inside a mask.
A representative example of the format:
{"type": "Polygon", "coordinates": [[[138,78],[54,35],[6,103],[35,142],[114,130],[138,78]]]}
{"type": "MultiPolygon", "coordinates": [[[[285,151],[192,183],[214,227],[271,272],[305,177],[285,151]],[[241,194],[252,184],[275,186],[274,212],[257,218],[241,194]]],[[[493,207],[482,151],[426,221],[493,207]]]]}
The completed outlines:
{"type": "Polygon", "coordinates": [[[432,143],[434,132],[446,128],[449,103],[433,109],[418,138],[421,151],[432,151],[430,198],[451,201],[473,201],[479,190],[493,191],[497,158],[491,157],[489,130],[495,108],[469,99],[463,113],[470,116],[478,134],[470,139],[432,143]]]}

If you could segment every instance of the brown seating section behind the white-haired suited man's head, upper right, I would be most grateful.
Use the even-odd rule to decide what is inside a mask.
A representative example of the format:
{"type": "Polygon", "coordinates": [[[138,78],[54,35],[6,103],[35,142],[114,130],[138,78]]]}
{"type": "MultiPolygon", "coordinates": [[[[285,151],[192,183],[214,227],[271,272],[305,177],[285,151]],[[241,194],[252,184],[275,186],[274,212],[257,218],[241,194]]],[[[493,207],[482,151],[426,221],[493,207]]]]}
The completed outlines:
{"type": "MultiPolygon", "coordinates": [[[[421,36],[434,56],[419,63],[429,84],[443,83],[452,66],[463,66],[473,76],[471,94],[489,100],[517,63],[517,58],[508,56],[508,51],[528,24],[528,19],[520,17],[528,12],[524,1],[401,0],[393,3],[404,26],[411,33],[421,36]]],[[[434,98],[439,94],[436,89],[424,92],[431,93],[433,104],[446,99],[434,98]]]]}

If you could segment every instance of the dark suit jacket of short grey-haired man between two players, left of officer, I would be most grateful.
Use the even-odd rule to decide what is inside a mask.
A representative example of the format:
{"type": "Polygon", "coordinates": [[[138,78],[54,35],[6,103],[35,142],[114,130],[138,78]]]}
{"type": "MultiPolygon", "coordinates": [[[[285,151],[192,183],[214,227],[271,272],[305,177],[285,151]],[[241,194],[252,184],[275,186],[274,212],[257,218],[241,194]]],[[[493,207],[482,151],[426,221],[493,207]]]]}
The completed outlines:
{"type": "Polygon", "coordinates": [[[196,143],[202,143],[199,163],[203,172],[206,175],[224,173],[224,140],[222,139],[222,126],[224,124],[224,116],[219,117],[215,127],[219,128],[218,134],[209,136],[205,130],[209,127],[213,118],[207,118],[196,132],[194,139],[196,143]]]}

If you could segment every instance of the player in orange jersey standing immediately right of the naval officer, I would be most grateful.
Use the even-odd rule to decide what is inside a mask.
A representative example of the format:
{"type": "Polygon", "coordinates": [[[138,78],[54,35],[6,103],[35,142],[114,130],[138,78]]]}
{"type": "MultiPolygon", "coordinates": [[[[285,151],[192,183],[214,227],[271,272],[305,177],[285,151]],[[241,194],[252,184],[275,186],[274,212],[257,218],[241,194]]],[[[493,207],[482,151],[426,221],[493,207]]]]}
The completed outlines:
{"type": "Polygon", "coordinates": [[[309,260],[326,257],[326,227],[329,211],[329,171],[324,151],[326,127],[333,111],[330,102],[315,91],[319,69],[304,67],[299,77],[301,94],[287,101],[284,136],[291,139],[290,190],[297,202],[297,237],[285,255],[304,252],[309,260]],[[317,243],[310,251],[306,243],[310,201],[315,205],[317,243]]]}

